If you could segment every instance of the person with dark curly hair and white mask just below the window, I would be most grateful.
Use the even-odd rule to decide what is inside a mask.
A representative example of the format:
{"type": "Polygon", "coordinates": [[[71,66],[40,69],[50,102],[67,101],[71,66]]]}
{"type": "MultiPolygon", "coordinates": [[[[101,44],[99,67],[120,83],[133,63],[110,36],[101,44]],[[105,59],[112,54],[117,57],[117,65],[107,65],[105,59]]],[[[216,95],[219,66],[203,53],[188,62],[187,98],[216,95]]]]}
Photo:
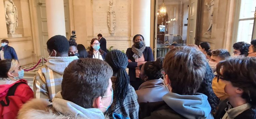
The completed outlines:
{"type": "Polygon", "coordinates": [[[233,53],[231,57],[247,56],[250,44],[245,42],[237,42],[233,45],[233,53]]]}

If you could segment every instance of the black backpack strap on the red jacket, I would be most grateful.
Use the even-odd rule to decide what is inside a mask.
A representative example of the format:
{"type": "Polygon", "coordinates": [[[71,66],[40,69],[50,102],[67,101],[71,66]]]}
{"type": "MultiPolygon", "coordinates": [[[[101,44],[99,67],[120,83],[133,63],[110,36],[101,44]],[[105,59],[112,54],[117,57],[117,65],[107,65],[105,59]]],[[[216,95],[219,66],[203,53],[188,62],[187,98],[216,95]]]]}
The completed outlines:
{"type": "Polygon", "coordinates": [[[26,84],[26,83],[25,83],[25,82],[15,83],[15,84],[8,90],[8,93],[7,93],[6,97],[5,97],[5,100],[6,100],[7,103],[5,104],[5,102],[4,102],[3,100],[0,101],[0,104],[1,104],[2,106],[9,106],[10,100],[9,100],[8,96],[14,96],[15,90],[16,90],[16,88],[18,87],[19,84],[26,84]]]}

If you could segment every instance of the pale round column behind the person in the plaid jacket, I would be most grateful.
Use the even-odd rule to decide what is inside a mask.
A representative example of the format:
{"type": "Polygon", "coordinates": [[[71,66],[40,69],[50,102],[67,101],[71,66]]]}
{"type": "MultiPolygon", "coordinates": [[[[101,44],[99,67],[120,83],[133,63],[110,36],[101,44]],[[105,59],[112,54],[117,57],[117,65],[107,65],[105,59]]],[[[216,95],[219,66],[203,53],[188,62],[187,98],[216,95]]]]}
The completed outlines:
{"type": "Polygon", "coordinates": [[[45,0],[48,37],[63,35],[66,37],[63,0],[45,0]]]}

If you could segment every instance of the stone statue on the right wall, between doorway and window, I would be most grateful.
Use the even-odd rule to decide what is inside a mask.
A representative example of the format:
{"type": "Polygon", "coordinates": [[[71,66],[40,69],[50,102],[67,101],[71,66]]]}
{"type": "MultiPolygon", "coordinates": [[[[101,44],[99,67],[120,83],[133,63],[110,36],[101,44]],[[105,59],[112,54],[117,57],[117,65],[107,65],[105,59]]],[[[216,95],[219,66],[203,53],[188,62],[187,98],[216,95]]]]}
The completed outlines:
{"type": "Polygon", "coordinates": [[[213,22],[213,5],[214,5],[214,0],[211,0],[210,4],[208,4],[207,0],[205,0],[205,5],[207,6],[207,10],[208,10],[208,20],[209,20],[209,24],[208,24],[208,28],[207,28],[207,32],[205,34],[211,34],[212,33],[212,22],[213,22]]]}

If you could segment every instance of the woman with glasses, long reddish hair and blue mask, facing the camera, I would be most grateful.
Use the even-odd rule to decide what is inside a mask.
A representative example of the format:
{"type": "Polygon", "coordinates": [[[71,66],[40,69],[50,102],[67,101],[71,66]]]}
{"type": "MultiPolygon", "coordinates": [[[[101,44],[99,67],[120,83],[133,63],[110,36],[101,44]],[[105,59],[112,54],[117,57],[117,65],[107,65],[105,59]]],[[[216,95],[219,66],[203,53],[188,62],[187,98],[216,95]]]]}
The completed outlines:
{"type": "Polygon", "coordinates": [[[89,58],[105,60],[106,52],[100,49],[100,43],[97,38],[91,39],[91,46],[88,51],[89,58]]]}

